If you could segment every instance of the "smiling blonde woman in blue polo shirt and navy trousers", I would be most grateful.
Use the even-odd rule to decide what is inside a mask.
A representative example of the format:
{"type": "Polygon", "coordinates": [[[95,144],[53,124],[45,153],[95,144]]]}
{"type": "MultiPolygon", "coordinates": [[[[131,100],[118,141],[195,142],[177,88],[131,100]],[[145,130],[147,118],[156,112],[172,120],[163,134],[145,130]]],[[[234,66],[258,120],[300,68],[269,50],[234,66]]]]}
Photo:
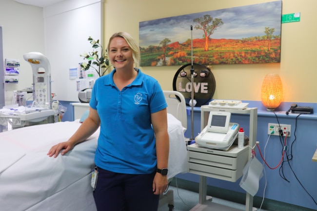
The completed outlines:
{"type": "Polygon", "coordinates": [[[128,33],[114,34],[107,50],[115,69],[96,80],[88,118],[48,155],[67,153],[100,126],[97,210],[156,211],[167,188],[167,104],[158,81],[138,69],[139,46],[128,33]]]}

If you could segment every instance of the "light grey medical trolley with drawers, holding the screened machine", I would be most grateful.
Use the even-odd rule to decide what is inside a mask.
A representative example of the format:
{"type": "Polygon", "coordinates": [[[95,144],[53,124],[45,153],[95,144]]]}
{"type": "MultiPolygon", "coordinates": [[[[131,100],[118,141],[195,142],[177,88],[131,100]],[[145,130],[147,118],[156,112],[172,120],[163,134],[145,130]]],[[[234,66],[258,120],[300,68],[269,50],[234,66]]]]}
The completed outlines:
{"type": "MultiPolygon", "coordinates": [[[[217,205],[208,201],[207,197],[207,177],[224,179],[228,181],[237,181],[242,175],[242,169],[249,159],[252,157],[252,149],[256,145],[257,138],[257,123],[258,123],[258,108],[246,109],[219,109],[207,106],[201,106],[201,122],[200,128],[203,130],[208,122],[209,112],[220,111],[230,112],[232,114],[249,115],[250,132],[249,144],[242,149],[231,147],[227,152],[218,150],[209,150],[201,148],[194,149],[197,145],[189,145],[188,149],[188,164],[189,172],[199,175],[199,201],[191,211],[238,211],[234,208],[217,205]],[[250,146],[250,147],[249,147],[250,146]],[[234,149],[236,148],[236,149],[234,149]],[[195,152],[196,151],[196,152],[195,152]],[[200,152],[199,152],[200,151],[200,152]],[[200,154],[199,153],[203,153],[200,154]],[[207,155],[207,153],[210,153],[207,155]],[[204,155],[206,154],[206,155],[204,155]],[[231,154],[231,155],[230,155],[231,154]],[[203,157],[203,158],[202,158],[203,157]],[[217,164],[216,164],[217,163],[217,164]],[[207,171],[206,171],[207,170],[207,171]],[[208,170],[210,172],[208,172],[208,170]]],[[[245,211],[253,210],[253,196],[246,193],[245,211]]]]}

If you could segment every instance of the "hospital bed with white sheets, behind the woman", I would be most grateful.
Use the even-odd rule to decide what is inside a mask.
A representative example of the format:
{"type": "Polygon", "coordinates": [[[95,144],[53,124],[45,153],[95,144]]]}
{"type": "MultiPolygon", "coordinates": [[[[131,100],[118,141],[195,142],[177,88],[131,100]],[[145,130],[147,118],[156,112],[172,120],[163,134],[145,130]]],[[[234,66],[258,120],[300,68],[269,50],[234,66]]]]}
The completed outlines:
{"type": "MultiPolygon", "coordinates": [[[[187,172],[187,117],[180,93],[164,91],[164,95],[169,113],[171,180],[178,173],[187,172]]],[[[67,140],[79,125],[77,119],[0,133],[0,210],[96,211],[90,180],[99,130],[64,156],[46,155],[54,144],[67,140]]],[[[160,198],[162,203],[166,198],[171,203],[173,194],[160,198]]]]}

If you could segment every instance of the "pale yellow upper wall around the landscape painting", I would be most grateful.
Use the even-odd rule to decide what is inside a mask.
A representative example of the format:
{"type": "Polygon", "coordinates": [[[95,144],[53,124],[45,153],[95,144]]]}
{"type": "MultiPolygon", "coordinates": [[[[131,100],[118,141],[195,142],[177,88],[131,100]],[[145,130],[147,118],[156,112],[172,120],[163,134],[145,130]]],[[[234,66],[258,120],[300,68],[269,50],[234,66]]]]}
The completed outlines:
{"type": "MultiPolygon", "coordinates": [[[[270,1],[272,0],[105,0],[105,40],[107,44],[113,33],[126,31],[139,41],[140,21],[270,1]]],[[[277,73],[283,83],[283,101],[317,102],[316,9],[316,0],[283,0],[282,14],[300,12],[301,17],[300,22],[282,24],[281,62],[212,65],[216,78],[213,98],[261,100],[263,78],[268,73],[277,73]]],[[[172,90],[173,77],[179,67],[141,67],[141,70],[157,78],[163,90],[172,90]]]]}

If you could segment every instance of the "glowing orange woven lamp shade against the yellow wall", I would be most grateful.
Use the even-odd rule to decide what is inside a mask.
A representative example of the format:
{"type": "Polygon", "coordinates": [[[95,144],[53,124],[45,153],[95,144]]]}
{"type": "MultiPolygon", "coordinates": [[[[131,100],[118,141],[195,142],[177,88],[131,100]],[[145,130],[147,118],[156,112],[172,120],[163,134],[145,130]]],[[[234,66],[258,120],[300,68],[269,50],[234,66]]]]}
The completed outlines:
{"type": "Polygon", "coordinates": [[[261,88],[261,100],[268,111],[274,111],[283,98],[283,85],[278,74],[267,74],[261,88]]]}

